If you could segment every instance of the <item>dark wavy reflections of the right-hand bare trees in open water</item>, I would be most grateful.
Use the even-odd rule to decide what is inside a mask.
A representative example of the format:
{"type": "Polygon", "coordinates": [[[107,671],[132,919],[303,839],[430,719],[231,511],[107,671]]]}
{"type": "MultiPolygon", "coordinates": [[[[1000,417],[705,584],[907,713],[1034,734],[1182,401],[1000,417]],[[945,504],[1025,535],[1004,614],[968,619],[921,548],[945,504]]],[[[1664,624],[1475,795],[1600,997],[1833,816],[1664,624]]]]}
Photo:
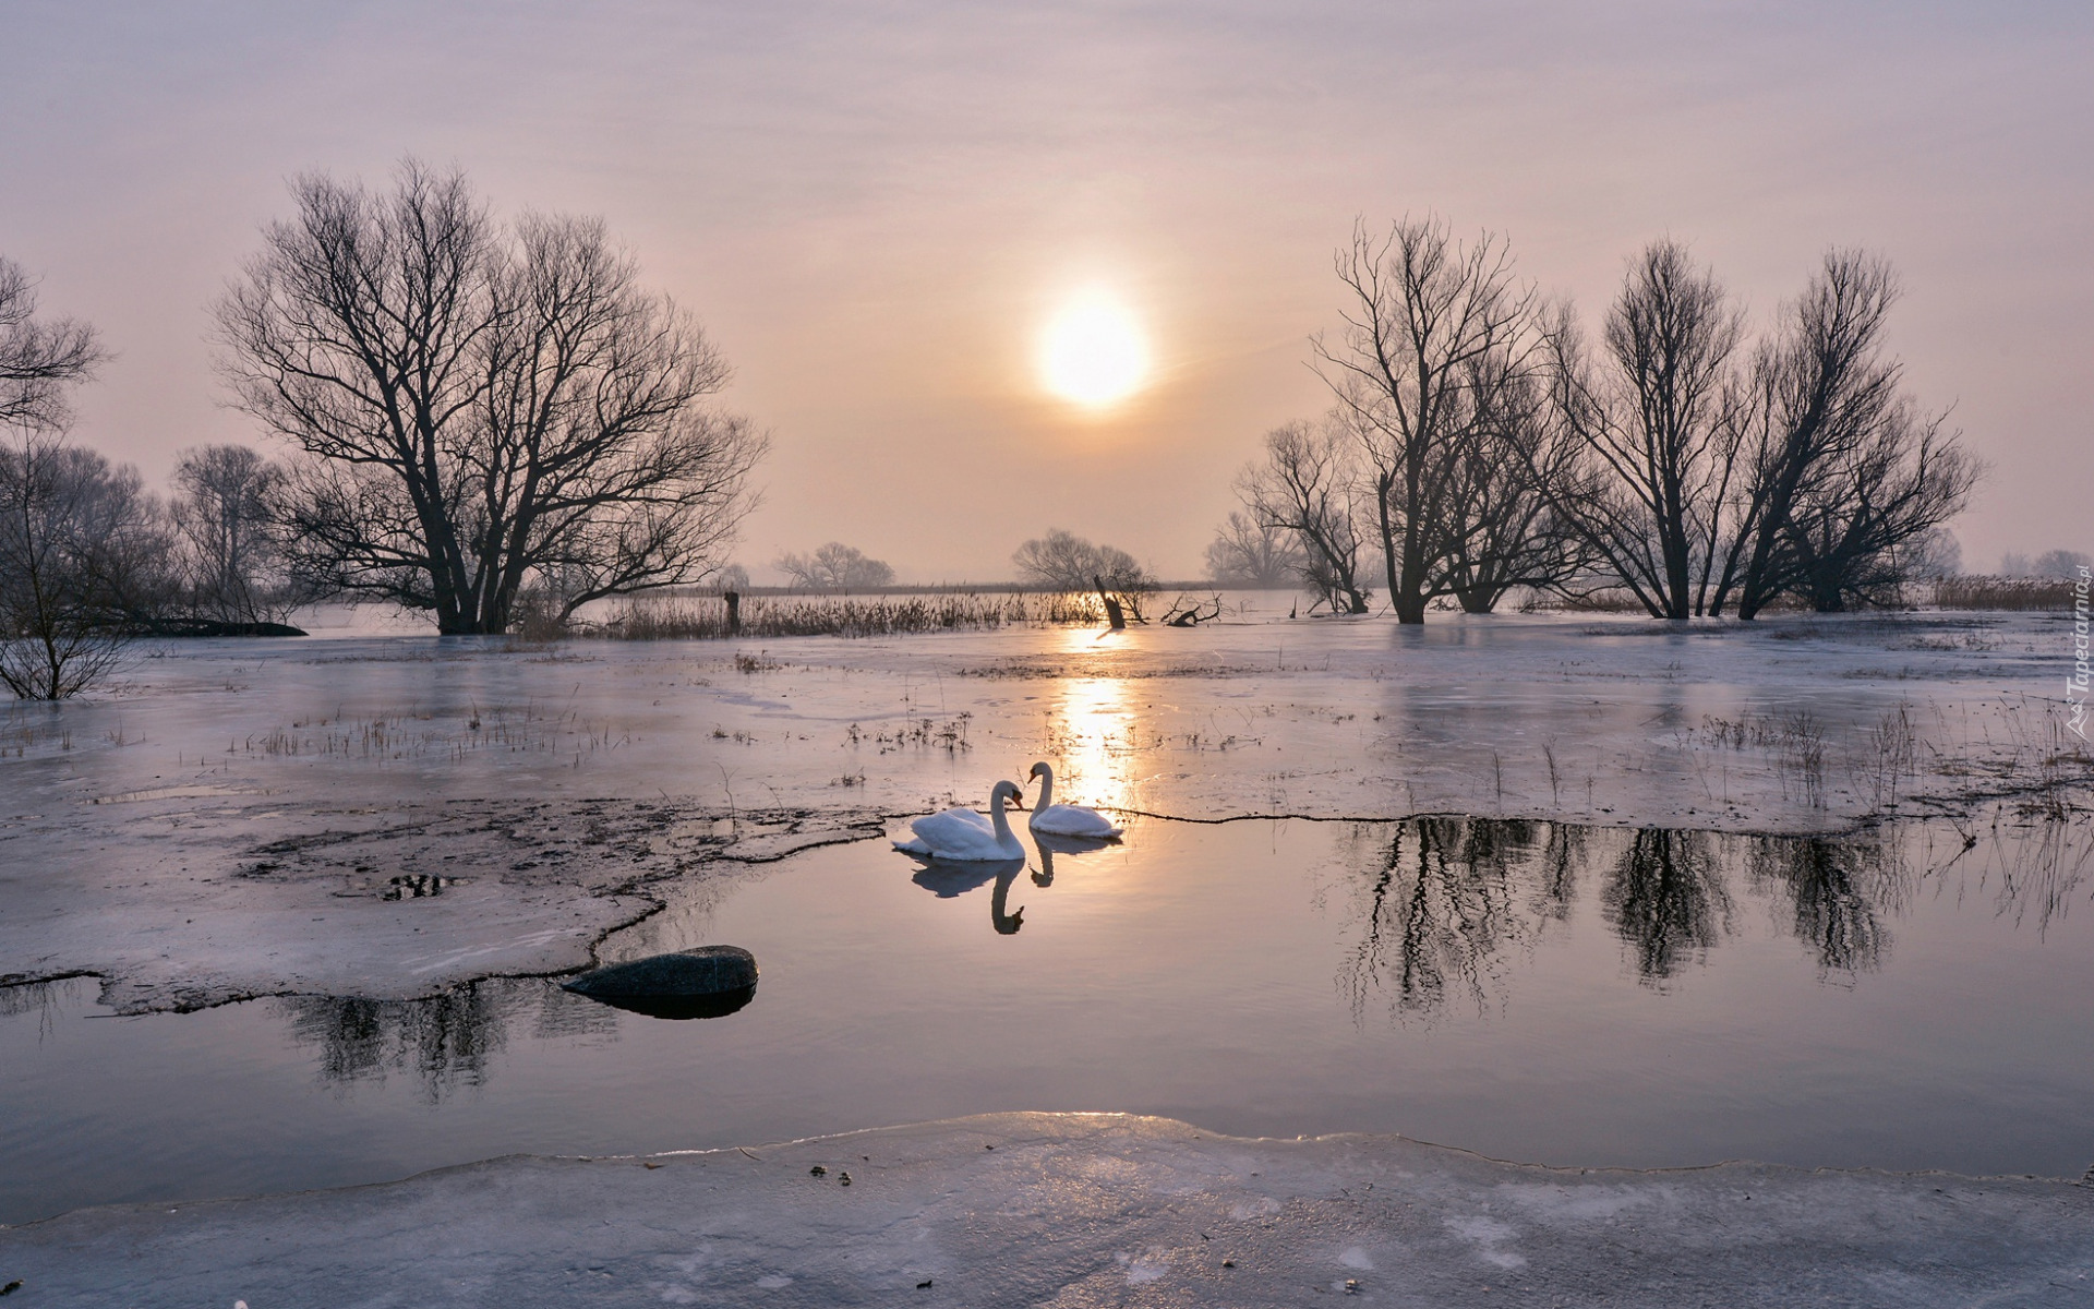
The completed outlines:
{"type": "Polygon", "coordinates": [[[1598,909],[1646,986],[1705,963],[1736,926],[1732,884],[1780,905],[1778,917],[1824,974],[1874,970],[1887,917],[1914,873],[1880,838],[1621,831],[1524,819],[1422,817],[1359,823],[1346,840],[1351,905],[1338,986],[1363,1018],[1376,997],[1399,1018],[1462,997],[1499,1007],[1518,953],[1568,924],[1587,869],[1604,869],[1598,909]]]}

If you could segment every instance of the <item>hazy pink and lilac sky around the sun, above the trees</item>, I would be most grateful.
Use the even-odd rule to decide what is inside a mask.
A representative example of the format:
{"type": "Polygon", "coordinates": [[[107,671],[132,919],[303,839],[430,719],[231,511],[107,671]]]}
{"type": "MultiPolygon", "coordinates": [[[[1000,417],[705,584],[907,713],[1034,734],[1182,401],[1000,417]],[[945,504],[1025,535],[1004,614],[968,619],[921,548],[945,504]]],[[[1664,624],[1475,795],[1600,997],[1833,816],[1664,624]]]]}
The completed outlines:
{"type": "Polygon", "coordinates": [[[1828,245],[1908,295],[1912,390],[1993,465],[1970,565],[2094,547],[2094,6],[115,4],[0,0],[0,253],[117,358],[80,438],[159,480],[253,440],[207,306],[285,180],[404,153],[603,214],[773,431],[741,557],[1009,576],[1047,526],[1191,576],[1311,417],[1355,216],[1510,235],[1596,316],[1654,235],[1765,320],[1828,245]],[[436,17],[431,17],[436,10],[436,17]],[[1081,287],[1152,385],[1041,392],[1081,287]]]}

